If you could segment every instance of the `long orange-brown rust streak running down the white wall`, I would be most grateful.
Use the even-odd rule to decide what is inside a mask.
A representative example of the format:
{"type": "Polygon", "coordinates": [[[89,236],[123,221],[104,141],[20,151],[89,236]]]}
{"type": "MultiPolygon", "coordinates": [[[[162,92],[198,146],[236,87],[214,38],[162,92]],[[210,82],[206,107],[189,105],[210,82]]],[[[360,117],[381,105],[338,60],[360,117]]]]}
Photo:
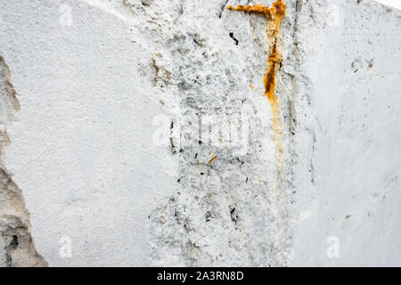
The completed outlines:
{"type": "Polygon", "coordinates": [[[282,140],[283,140],[283,128],[280,120],[280,101],[274,94],[275,91],[275,76],[277,69],[282,61],[282,54],[278,49],[278,35],[280,31],[280,25],[282,19],[285,16],[285,4],[282,0],[274,1],[272,7],[266,7],[263,4],[251,5],[237,5],[228,6],[231,11],[242,11],[242,12],[255,12],[266,16],[266,20],[269,21],[268,36],[271,41],[271,51],[266,62],[266,73],[264,77],[265,95],[270,103],[273,116],[273,133],[274,142],[276,143],[276,156],[277,156],[277,171],[281,170],[282,167],[282,140]]]}

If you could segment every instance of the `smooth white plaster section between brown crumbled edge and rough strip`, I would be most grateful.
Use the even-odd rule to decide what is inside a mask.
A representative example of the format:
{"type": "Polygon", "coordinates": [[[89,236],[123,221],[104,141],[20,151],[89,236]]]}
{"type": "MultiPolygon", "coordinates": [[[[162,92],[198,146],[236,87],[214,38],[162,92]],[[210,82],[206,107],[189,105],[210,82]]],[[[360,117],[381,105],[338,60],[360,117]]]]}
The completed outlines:
{"type": "Polygon", "coordinates": [[[176,162],[152,143],[163,106],[143,21],[79,1],[2,1],[1,10],[20,101],[5,166],[37,251],[49,265],[147,264],[148,216],[172,192],[176,162]]]}

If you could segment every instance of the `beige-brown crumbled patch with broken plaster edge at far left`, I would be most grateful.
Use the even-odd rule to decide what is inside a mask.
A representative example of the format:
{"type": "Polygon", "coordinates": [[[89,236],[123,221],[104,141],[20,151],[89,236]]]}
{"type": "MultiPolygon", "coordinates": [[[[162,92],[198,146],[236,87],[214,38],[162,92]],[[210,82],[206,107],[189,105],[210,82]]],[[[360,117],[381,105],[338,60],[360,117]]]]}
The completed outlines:
{"type": "Polygon", "coordinates": [[[4,167],[4,148],[10,143],[7,126],[20,103],[10,82],[10,69],[0,56],[0,266],[47,266],[29,233],[29,212],[22,191],[4,167]]]}

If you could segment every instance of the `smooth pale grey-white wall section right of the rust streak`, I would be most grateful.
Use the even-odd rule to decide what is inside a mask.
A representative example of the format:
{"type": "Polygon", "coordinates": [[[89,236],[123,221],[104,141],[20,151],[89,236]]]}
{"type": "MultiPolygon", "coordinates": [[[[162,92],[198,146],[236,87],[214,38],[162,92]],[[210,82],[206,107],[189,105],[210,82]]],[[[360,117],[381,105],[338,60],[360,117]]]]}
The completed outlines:
{"type": "Polygon", "coordinates": [[[369,1],[337,7],[338,24],[313,34],[313,182],[298,192],[305,220],[294,262],[400,265],[401,12],[369,1]],[[337,241],[339,258],[328,258],[337,241]]]}

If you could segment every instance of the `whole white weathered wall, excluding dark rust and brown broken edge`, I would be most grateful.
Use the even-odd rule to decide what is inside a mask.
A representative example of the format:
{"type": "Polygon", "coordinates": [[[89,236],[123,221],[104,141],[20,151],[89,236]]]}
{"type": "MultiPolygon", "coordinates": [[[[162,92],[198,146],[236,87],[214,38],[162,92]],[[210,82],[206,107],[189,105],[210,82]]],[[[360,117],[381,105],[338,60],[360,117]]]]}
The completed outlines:
{"type": "Polygon", "coordinates": [[[0,3],[15,265],[401,265],[401,13],[284,1],[272,104],[256,3],[0,3]]]}

